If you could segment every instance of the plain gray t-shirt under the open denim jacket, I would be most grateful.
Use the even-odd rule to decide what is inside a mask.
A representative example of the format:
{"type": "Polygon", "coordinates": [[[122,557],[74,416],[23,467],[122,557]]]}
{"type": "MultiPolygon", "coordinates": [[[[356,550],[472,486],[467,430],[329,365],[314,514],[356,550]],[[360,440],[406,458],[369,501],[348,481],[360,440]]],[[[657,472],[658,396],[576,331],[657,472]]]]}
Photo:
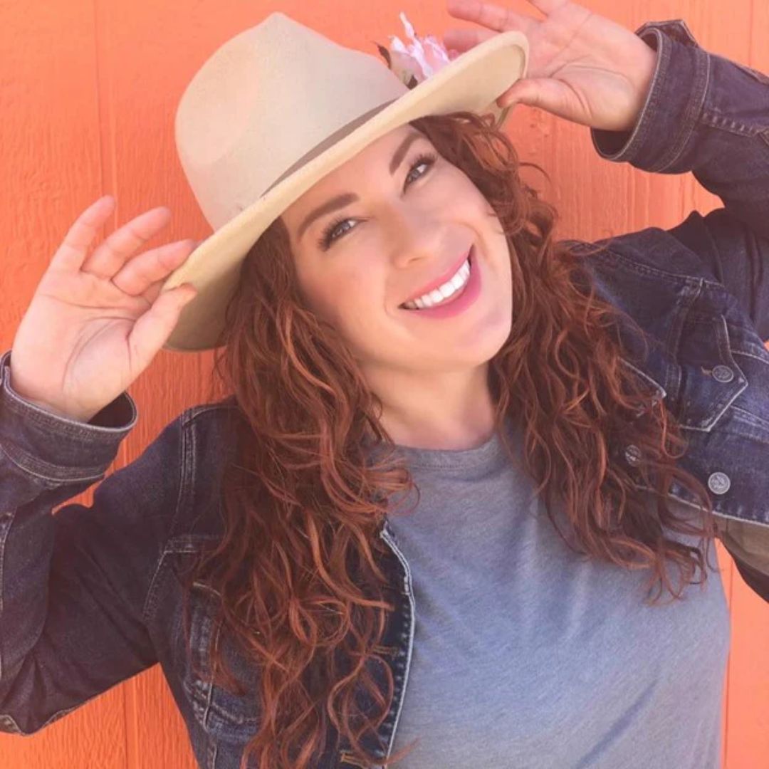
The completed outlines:
{"type": "MultiPolygon", "coordinates": [[[[648,606],[647,570],[571,551],[496,435],[399,451],[421,500],[388,515],[416,602],[393,753],[421,744],[396,769],[720,767],[730,621],[718,571],[704,591],[648,606]]],[[[717,566],[712,544],[707,559],[717,566]]],[[[676,564],[670,574],[676,586],[676,564]]]]}

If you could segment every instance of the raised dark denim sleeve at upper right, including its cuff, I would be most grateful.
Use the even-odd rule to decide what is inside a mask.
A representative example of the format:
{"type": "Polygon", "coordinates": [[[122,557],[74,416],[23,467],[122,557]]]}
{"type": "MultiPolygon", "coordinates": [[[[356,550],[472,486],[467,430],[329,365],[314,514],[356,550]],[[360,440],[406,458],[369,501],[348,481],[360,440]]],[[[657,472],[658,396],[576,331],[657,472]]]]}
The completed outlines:
{"type": "Polygon", "coordinates": [[[636,30],[657,51],[631,131],[591,128],[601,157],[643,171],[692,171],[724,203],[667,232],[701,256],[769,338],[769,77],[706,52],[683,19],[636,30]]]}

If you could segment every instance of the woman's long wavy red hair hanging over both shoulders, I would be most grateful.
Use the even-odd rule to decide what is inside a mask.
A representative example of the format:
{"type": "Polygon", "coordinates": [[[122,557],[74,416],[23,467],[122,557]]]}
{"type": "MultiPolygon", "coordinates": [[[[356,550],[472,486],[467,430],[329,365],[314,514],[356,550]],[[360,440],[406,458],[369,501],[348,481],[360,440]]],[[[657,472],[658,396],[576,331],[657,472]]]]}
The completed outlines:
{"type": "MultiPolygon", "coordinates": [[[[709,496],[676,466],[687,441],[664,402],[622,365],[628,351],[616,321],[634,321],[595,295],[581,265],[591,251],[578,256],[553,241],[557,213],[519,170],[529,165],[548,175],[518,160],[491,115],[454,112],[411,125],[468,175],[508,238],[515,312],[507,340],[489,361],[495,430],[509,452],[504,420],[521,428],[525,470],[552,524],[561,534],[555,502],[581,552],[647,569],[647,590],[657,585],[647,603],[663,587],[680,598],[697,572],[704,586],[703,549],[714,537],[709,496]],[[620,444],[638,448],[634,471],[620,444]],[[674,478],[702,501],[701,526],[667,508],[674,478]],[[654,490],[657,504],[644,504],[639,480],[654,490]],[[701,547],[668,538],[666,529],[700,536],[701,547]]],[[[352,761],[391,764],[414,743],[387,759],[361,745],[387,716],[394,685],[380,654],[394,604],[381,568],[388,546],[378,532],[385,511],[394,512],[390,498],[404,499],[416,487],[408,468],[391,461],[394,442],[379,421],[381,401],[356,359],[303,301],[279,218],[242,265],[221,345],[215,373],[237,407],[236,459],[222,476],[225,533],[187,581],[187,638],[189,585],[205,571],[219,597],[217,621],[258,670],[258,684],[251,682],[251,694],[258,689],[258,731],[241,769],[251,757],[258,769],[315,766],[328,724],[348,737],[352,761]],[[371,440],[388,449],[374,463],[365,453],[371,440]],[[386,693],[378,691],[371,663],[381,664],[386,693]],[[377,712],[356,711],[358,687],[377,712]]],[[[208,670],[228,691],[248,691],[218,644],[208,650],[208,670]]]]}

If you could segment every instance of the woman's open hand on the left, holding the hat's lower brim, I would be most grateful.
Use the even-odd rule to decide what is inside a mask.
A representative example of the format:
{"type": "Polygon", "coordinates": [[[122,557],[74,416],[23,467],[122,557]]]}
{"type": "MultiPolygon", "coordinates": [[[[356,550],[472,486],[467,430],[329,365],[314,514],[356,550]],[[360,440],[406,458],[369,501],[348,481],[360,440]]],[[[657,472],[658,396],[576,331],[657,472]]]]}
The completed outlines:
{"type": "Polygon", "coordinates": [[[11,387],[41,408],[83,422],[148,367],[197,293],[190,283],[160,289],[198,241],[137,252],[168,224],[165,206],[128,221],[88,256],[114,208],[115,199],[105,195],[75,220],[12,346],[11,387]]]}

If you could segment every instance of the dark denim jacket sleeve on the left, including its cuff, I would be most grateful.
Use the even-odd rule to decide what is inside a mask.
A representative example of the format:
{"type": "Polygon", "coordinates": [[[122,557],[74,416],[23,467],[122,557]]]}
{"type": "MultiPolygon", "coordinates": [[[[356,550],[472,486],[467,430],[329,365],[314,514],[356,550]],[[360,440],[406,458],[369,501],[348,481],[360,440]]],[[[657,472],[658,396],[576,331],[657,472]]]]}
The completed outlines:
{"type": "Polygon", "coordinates": [[[157,662],[150,588],[175,510],[181,423],[94,491],[137,421],[127,392],[87,424],[38,408],[0,358],[0,731],[32,734],[157,662]]]}

